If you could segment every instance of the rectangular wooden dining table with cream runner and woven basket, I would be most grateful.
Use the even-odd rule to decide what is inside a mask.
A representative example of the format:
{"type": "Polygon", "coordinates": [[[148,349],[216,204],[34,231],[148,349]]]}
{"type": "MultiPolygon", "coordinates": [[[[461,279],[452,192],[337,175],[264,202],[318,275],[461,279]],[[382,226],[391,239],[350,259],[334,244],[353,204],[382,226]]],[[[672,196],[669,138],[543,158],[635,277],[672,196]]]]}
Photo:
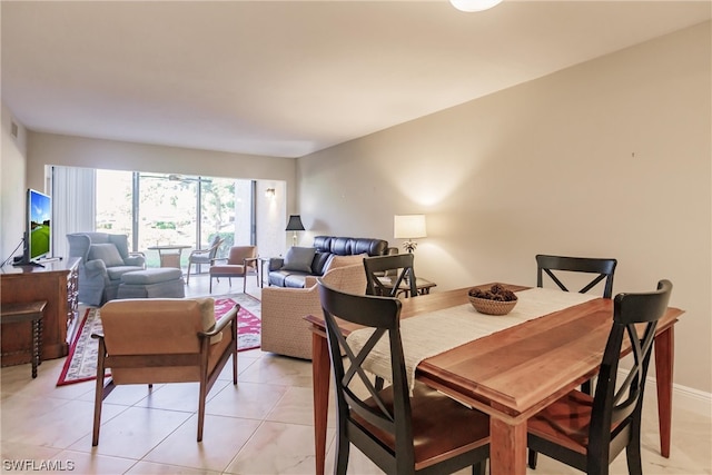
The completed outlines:
{"type": "MultiPolygon", "coordinates": [[[[483,285],[488,287],[491,284],[483,285]]],[[[506,285],[513,291],[528,287],[506,285]]],[[[466,287],[403,300],[400,318],[468,304],[466,287]]],[[[670,456],[674,325],[668,308],[655,334],[661,453],[670,456]]],[[[323,316],[307,316],[313,331],[316,473],[326,457],[330,362],[323,316]]],[[[527,419],[595,376],[613,319],[613,300],[595,298],[474,339],[421,362],[417,380],[490,415],[491,474],[526,473],[527,419]]],[[[356,325],[342,323],[348,335],[356,325]]],[[[630,346],[623,349],[630,350],[630,346]]]]}

